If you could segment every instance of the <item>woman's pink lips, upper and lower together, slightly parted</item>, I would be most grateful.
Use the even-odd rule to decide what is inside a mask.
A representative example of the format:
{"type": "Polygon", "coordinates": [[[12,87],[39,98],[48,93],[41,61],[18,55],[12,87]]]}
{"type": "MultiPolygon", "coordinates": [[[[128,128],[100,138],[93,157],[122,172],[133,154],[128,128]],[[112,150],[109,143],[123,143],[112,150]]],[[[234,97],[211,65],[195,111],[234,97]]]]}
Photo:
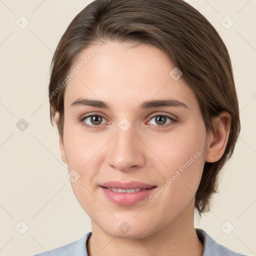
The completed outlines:
{"type": "Polygon", "coordinates": [[[104,195],[111,202],[118,204],[129,206],[136,204],[137,202],[145,199],[146,197],[153,193],[157,186],[146,184],[138,181],[130,181],[130,182],[120,182],[120,181],[109,181],[100,184],[100,188],[104,195]],[[126,192],[115,192],[113,190],[108,189],[107,187],[113,188],[122,188],[122,189],[132,189],[132,188],[147,188],[146,190],[140,190],[138,192],[126,193],[126,192]]]}

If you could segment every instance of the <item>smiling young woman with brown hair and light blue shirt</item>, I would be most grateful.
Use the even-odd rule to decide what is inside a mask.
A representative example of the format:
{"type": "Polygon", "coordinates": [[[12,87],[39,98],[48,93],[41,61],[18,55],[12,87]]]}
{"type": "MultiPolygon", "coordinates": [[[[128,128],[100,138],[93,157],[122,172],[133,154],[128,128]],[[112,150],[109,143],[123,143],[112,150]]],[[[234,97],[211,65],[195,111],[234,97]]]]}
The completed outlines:
{"type": "Polygon", "coordinates": [[[43,255],[241,255],[194,228],[240,130],[227,49],[182,0],[95,0],[52,59],[50,117],[92,232],[43,255]]]}

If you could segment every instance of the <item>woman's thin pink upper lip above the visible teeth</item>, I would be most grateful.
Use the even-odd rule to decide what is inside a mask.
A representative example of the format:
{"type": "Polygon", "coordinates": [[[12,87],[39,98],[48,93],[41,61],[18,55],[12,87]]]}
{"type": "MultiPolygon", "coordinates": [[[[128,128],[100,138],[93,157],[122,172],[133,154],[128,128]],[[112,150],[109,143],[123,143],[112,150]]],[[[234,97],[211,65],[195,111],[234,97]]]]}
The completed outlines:
{"type": "Polygon", "coordinates": [[[133,188],[151,188],[156,185],[146,184],[139,181],[121,182],[118,180],[112,180],[112,181],[101,183],[100,186],[122,188],[122,189],[133,189],[133,188]]]}

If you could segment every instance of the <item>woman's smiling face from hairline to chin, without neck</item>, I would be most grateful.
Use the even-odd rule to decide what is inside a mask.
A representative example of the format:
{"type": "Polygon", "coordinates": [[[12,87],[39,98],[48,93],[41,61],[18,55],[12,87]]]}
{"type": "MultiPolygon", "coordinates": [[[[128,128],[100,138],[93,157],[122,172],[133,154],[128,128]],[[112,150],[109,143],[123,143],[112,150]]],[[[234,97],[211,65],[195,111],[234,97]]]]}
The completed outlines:
{"type": "Polygon", "coordinates": [[[207,135],[192,90],[170,72],[166,54],[107,41],[84,49],[72,68],[60,149],[93,223],[142,238],[191,220],[207,135]]]}

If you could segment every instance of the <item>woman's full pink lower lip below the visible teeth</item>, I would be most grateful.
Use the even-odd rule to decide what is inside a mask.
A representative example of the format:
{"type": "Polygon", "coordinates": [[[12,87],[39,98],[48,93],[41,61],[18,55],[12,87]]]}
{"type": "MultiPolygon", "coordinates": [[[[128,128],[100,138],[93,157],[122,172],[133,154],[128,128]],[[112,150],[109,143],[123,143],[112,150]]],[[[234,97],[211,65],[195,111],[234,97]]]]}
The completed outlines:
{"type": "Polygon", "coordinates": [[[143,200],[145,197],[148,197],[155,188],[156,187],[151,187],[133,193],[119,193],[101,186],[103,193],[111,202],[125,206],[133,205],[143,200]]]}

